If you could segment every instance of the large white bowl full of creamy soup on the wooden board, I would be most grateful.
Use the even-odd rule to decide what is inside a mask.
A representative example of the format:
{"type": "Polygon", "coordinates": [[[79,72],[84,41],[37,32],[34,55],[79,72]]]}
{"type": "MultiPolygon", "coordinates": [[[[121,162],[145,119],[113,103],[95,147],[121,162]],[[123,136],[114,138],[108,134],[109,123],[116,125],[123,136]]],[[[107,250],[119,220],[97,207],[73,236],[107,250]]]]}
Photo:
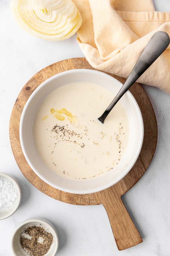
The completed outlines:
{"type": "Polygon", "coordinates": [[[20,120],[20,142],[33,171],[59,190],[88,194],[121,180],[143,143],[143,120],[127,91],[98,118],[122,83],[100,71],[75,69],[44,81],[31,94],[20,120]]]}

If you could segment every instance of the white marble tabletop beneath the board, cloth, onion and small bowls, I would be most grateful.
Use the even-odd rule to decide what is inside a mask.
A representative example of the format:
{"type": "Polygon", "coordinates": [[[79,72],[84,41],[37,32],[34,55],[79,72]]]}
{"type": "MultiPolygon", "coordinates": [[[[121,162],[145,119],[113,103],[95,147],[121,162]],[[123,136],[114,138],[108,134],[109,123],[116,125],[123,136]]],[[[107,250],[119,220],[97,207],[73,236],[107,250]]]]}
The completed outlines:
{"type": "MultiPolygon", "coordinates": [[[[170,11],[169,0],[155,0],[154,4],[157,10],[170,11]]],[[[123,197],[143,243],[118,251],[103,206],[68,205],[38,191],[20,172],[9,142],[10,113],[21,88],[45,66],[83,56],[76,36],[62,42],[32,37],[15,23],[7,0],[1,0],[0,34],[0,172],[13,175],[22,188],[20,208],[10,218],[0,221],[0,256],[12,255],[12,233],[31,217],[43,217],[54,223],[60,239],[58,256],[169,256],[170,96],[144,86],[158,121],[158,146],[146,174],[123,197]]]]}

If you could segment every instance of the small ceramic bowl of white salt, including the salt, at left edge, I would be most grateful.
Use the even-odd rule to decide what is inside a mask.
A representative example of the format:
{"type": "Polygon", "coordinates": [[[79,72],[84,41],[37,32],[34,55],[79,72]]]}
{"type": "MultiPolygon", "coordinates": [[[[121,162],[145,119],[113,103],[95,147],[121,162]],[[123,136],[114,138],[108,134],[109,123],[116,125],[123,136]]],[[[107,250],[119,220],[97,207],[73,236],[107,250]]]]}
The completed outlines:
{"type": "Polygon", "coordinates": [[[10,217],[21,202],[21,188],[8,174],[0,173],[0,220],[10,217]]]}

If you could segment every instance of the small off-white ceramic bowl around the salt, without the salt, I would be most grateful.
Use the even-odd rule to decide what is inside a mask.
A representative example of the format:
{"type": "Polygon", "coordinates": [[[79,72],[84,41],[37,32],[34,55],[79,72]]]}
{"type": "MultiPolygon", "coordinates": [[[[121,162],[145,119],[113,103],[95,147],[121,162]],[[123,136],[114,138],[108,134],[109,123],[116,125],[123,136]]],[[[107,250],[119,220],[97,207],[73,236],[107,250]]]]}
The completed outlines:
{"type": "Polygon", "coordinates": [[[3,219],[6,219],[6,218],[10,217],[12,214],[14,214],[14,212],[16,212],[16,210],[20,206],[20,203],[21,203],[21,188],[20,188],[20,185],[17,182],[17,180],[14,179],[13,177],[11,177],[10,175],[5,174],[5,173],[0,173],[0,177],[1,176],[9,179],[15,185],[15,187],[17,189],[17,194],[18,194],[18,197],[17,197],[14,205],[12,205],[6,211],[0,212],[0,220],[3,220],[3,219]]]}

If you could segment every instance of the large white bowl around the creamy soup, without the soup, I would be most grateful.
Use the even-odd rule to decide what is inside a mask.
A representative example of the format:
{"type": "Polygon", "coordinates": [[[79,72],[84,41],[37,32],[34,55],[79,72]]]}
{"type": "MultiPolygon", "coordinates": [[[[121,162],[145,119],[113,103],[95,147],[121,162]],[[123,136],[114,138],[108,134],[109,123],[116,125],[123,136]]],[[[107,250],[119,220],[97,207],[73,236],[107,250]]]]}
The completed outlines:
{"type": "MultiPolygon", "coordinates": [[[[32,125],[38,106],[57,87],[71,82],[92,82],[99,84],[115,95],[122,83],[100,71],[74,69],[59,73],[44,81],[30,96],[24,106],[20,120],[20,142],[24,156],[33,171],[54,188],[74,194],[88,194],[106,189],[122,179],[135,164],[143,143],[143,119],[133,95],[127,91],[121,98],[129,118],[129,143],[126,153],[112,172],[91,180],[70,180],[50,170],[34,147],[32,125]]],[[[109,104],[110,102],[108,102],[109,104]]]]}

